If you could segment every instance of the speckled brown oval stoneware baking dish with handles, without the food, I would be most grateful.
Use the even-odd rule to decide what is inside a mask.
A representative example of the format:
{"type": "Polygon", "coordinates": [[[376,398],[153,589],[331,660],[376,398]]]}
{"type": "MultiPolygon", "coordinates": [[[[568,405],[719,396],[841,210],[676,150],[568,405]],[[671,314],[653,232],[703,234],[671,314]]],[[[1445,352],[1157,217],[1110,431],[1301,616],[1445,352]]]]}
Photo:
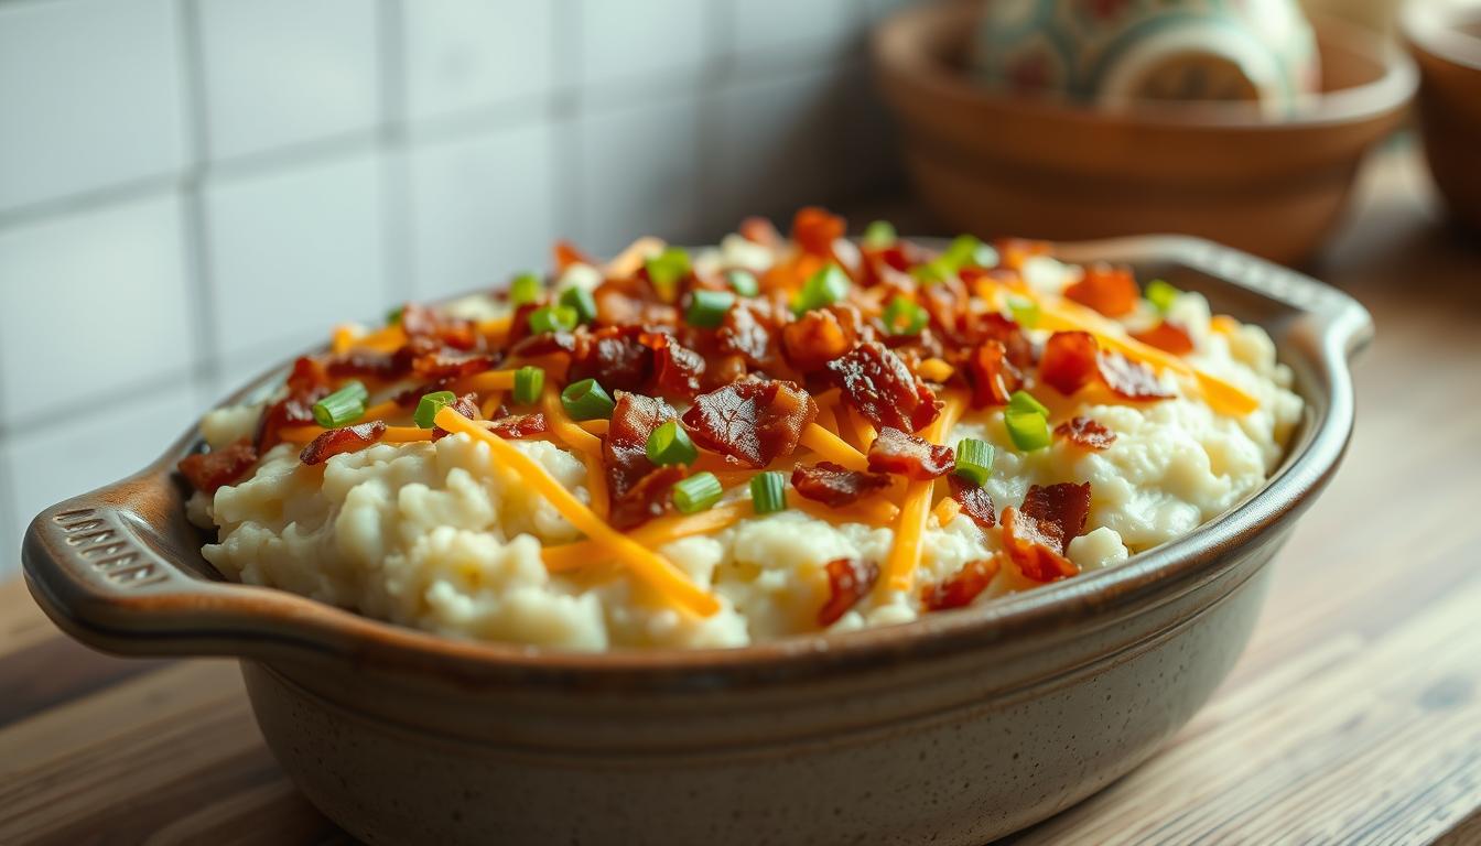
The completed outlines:
{"type": "Polygon", "coordinates": [[[1207,242],[1059,252],[1129,262],[1262,323],[1308,404],[1260,493],[1115,567],[735,650],[453,642],[221,581],[172,477],[191,433],[41,513],[27,579],[99,649],[240,658],[283,769],[370,843],[983,843],[1105,787],[1207,699],[1250,634],[1265,564],[1336,471],[1348,357],[1371,333],[1345,295],[1207,242]]]}

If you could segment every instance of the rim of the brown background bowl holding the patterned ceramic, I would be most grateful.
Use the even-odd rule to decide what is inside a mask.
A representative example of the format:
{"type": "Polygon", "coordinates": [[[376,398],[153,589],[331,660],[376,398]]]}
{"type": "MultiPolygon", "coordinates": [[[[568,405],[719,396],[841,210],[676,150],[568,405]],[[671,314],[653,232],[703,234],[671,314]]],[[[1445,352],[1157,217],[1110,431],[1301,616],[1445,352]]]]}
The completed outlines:
{"type": "Polygon", "coordinates": [[[966,76],[951,73],[940,56],[915,49],[935,28],[974,16],[979,7],[977,0],[948,0],[896,12],[871,39],[878,71],[957,101],[1004,105],[1020,117],[1185,132],[1280,132],[1380,120],[1407,104],[1419,87],[1419,70],[1397,41],[1340,18],[1308,10],[1318,41],[1361,55],[1382,67],[1383,73],[1368,83],[1302,95],[1291,114],[1278,117],[1263,113],[1257,104],[1130,104],[1099,110],[1050,98],[1013,96],[973,84],[966,76]]]}

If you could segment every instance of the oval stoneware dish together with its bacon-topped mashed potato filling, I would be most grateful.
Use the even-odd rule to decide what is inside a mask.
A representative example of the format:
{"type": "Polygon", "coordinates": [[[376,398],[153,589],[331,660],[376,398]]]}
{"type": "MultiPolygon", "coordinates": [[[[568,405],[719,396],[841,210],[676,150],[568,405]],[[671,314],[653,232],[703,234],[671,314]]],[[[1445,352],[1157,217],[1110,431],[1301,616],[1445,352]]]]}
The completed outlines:
{"type": "Polygon", "coordinates": [[[1336,470],[1361,307],[1191,239],[743,230],[336,332],[39,516],[34,596],[240,658],[367,842],[969,845],[1143,760],[1336,470]]]}

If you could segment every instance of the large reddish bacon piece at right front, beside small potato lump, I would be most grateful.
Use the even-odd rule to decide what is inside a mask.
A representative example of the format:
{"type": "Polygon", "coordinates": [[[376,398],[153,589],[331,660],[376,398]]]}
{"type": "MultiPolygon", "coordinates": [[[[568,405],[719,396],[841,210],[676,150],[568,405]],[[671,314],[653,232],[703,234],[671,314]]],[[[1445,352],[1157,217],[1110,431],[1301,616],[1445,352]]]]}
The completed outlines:
{"type": "Polygon", "coordinates": [[[1052,582],[1080,567],[1065,557],[1069,541],[1086,530],[1090,483],[1034,484],[1022,508],[1003,510],[1003,545],[1023,578],[1052,582]]]}

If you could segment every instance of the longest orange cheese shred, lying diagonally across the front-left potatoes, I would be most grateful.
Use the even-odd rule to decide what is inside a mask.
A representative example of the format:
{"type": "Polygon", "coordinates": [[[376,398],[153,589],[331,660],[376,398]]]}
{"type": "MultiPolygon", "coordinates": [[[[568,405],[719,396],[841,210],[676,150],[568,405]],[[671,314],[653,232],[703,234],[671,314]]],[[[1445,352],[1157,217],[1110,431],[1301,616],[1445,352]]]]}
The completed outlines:
{"type": "Polygon", "coordinates": [[[450,407],[443,407],[443,410],[437,412],[435,422],[450,433],[465,434],[486,443],[493,458],[492,464],[498,471],[514,473],[520,482],[538,490],[566,520],[585,533],[591,542],[598,544],[622,562],[634,576],[652,587],[674,606],[699,616],[711,616],[720,610],[720,600],[689,581],[689,576],[666,559],[646,548],[637,539],[609,526],[591,508],[582,505],[560,482],[555,482],[539,462],[515,449],[509,442],[450,407]]]}

